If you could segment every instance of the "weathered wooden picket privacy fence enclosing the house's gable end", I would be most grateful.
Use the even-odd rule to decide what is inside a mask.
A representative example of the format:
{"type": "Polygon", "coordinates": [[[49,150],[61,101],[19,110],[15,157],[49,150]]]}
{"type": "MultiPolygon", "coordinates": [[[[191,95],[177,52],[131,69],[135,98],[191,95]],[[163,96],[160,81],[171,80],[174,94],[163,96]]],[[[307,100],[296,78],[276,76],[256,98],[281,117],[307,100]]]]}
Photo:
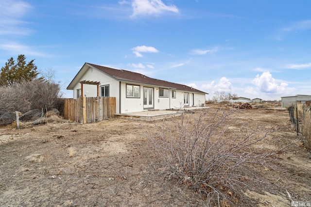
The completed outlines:
{"type": "Polygon", "coordinates": [[[116,113],[116,97],[65,98],[64,118],[86,124],[113,118],[116,113]]]}

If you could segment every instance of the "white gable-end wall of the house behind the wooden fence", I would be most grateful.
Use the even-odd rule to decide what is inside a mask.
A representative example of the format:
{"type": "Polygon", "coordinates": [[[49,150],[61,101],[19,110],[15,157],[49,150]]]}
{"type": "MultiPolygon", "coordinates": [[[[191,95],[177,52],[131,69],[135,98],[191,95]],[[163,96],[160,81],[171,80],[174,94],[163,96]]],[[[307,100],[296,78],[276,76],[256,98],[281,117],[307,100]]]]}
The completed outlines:
{"type": "MultiPolygon", "coordinates": [[[[83,75],[83,77],[79,80],[89,80],[89,81],[98,81],[101,84],[99,85],[99,96],[101,96],[101,86],[109,85],[109,96],[110,97],[116,97],[116,112],[119,113],[119,106],[120,106],[120,100],[119,100],[119,81],[115,80],[107,75],[105,75],[103,72],[93,69],[92,71],[88,69],[86,73],[83,75]]],[[[81,83],[77,83],[73,87],[73,98],[77,98],[77,89],[81,89],[81,83]]],[[[97,85],[87,85],[83,84],[83,95],[86,97],[96,97],[97,96],[97,85]]]]}

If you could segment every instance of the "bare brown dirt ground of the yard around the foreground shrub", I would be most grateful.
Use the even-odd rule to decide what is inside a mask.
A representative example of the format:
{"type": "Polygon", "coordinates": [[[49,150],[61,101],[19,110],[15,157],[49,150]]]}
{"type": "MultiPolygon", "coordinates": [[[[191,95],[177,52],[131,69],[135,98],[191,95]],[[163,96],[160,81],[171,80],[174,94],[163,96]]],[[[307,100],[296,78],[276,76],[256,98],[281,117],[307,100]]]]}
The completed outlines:
{"type": "MultiPolygon", "coordinates": [[[[245,123],[290,126],[284,110],[240,110],[234,116],[228,130],[245,123]]],[[[156,128],[125,119],[0,128],[0,206],[205,206],[202,195],[158,174],[146,130],[156,128]]],[[[272,134],[267,146],[279,149],[295,139],[294,130],[286,127],[272,134]]],[[[274,158],[275,168],[254,169],[272,185],[246,188],[247,197],[237,206],[291,206],[287,191],[294,201],[311,201],[311,155],[302,143],[274,158]]]]}

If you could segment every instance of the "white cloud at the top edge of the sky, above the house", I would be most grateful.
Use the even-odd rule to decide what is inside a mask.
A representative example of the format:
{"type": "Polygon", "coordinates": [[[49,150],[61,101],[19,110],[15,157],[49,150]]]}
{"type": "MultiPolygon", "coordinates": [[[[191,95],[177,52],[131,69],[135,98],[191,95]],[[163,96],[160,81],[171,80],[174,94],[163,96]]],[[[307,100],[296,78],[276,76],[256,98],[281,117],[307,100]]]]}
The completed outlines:
{"type": "Polygon", "coordinates": [[[165,5],[161,0],[133,0],[133,14],[131,17],[139,15],[159,15],[164,12],[179,13],[175,5],[165,5]]]}

